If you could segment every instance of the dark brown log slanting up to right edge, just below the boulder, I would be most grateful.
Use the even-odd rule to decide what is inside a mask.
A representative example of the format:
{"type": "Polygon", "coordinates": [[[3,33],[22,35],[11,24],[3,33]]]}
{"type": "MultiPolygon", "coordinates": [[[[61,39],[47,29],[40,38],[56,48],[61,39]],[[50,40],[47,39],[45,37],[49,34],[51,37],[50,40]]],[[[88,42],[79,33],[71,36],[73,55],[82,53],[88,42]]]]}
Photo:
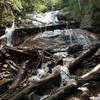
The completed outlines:
{"type": "Polygon", "coordinates": [[[88,57],[91,57],[99,48],[99,44],[94,45],[91,49],[83,52],[79,57],[77,57],[72,63],[66,64],[65,66],[68,67],[70,72],[73,72],[75,67],[80,64],[83,60],[88,57]]]}

